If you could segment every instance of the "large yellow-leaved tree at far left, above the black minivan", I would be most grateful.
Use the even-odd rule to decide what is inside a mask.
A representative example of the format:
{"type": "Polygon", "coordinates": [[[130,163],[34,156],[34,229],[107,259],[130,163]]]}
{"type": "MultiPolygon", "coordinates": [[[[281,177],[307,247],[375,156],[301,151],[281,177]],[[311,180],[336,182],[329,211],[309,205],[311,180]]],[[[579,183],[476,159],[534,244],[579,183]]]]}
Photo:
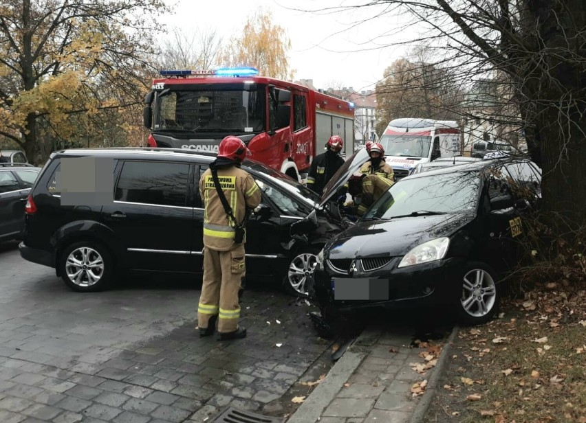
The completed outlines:
{"type": "MultiPolygon", "coordinates": [[[[161,0],[10,0],[0,5],[0,135],[46,157],[55,139],[114,137],[140,107],[161,0]]],[[[88,141],[89,144],[89,141],[88,141]]]]}

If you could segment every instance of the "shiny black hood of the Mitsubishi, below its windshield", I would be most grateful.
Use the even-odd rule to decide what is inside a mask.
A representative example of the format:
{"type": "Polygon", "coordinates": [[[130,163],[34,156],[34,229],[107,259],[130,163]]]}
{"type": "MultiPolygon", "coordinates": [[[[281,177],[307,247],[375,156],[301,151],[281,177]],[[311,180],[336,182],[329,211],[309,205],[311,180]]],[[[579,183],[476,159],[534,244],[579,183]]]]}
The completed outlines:
{"type": "Polygon", "coordinates": [[[423,242],[450,236],[474,217],[442,214],[360,221],[329,242],[326,249],[332,259],[401,256],[423,242]]]}

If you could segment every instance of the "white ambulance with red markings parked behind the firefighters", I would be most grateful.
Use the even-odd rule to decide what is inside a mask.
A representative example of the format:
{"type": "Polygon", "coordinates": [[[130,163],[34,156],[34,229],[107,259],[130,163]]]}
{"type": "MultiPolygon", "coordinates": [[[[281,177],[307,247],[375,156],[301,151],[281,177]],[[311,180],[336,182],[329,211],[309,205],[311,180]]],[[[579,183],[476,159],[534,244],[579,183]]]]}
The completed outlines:
{"type": "Polygon", "coordinates": [[[461,156],[461,136],[455,120],[402,118],[391,120],[378,142],[398,180],[419,163],[461,156]]]}

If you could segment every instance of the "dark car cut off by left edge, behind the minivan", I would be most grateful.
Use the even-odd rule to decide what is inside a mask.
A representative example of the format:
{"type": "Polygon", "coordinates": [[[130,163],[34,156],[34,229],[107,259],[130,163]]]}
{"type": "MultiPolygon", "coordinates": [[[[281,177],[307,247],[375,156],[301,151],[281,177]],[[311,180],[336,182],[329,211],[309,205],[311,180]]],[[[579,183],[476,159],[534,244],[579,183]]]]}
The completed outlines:
{"type": "Polygon", "coordinates": [[[39,172],[34,166],[0,166],[0,242],[21,236],[25,202],[39,172]]]}

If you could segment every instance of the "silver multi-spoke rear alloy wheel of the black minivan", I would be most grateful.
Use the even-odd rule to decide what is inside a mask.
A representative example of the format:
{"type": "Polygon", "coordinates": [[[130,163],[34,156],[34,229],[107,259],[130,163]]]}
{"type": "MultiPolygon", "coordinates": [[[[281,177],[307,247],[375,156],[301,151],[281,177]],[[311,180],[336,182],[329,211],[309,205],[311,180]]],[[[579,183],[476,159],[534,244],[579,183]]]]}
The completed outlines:
{"type": "Polygon", "coordinates": [[[94,249],[79,247],[67,256],[65,271],[74,284],[92,286],[104,275],[104,259],[94,249]]]}

